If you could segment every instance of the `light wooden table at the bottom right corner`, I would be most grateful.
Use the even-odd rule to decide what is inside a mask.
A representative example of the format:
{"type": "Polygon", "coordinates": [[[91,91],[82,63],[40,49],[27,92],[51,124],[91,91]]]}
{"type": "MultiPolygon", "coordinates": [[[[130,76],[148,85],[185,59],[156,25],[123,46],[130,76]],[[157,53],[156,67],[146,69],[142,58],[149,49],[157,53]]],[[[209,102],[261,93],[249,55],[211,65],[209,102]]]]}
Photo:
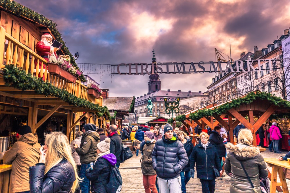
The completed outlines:
{"type": "Polygon", "coordinates": [[[285,175],[283,172],[283,167],[290,170],[290,165],[288,161],[280,161],[277,158],[265,158],[264,161],[270,167],[272,167],[270,193],[275,193],[277,186],[282,186],[283,192],[289,193],[285,175]],[[280,183],[277,182],[277,176],[278,176],[277,174],[279,174],[280,183]]]}

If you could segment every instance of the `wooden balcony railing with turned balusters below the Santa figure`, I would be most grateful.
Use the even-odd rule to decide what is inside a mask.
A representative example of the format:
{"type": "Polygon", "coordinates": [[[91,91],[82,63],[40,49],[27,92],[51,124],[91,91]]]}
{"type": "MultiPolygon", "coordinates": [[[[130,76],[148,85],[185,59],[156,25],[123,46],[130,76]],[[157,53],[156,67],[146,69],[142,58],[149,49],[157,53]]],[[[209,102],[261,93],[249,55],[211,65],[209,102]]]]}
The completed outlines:
{"type": "Polygon", "coordinates": [[[68,83],[65,79],[50,74],[47,70],[47,61],[45,59],[30,50],[17,39],[7,34],[5,29],[0,26],[0,68],[3,69],[5,68],[5,65],[9,64],[23,68],[26,71],[26,74],[30,74],[31,76],[43,77],[44,81],[49,81],[57,88],[67,90],[70,94],[74,94],[76,97],[86,99],[94,104],[102,106],[102,97],[95,99],[88,95],[88,88],[81,84],[80,81],[76,81],[76,83],[68,83]],[[35,66],[35,60],[37,60],[37,64],[41,62],[41,68],[39,68],[39,65],[35,66]]]}

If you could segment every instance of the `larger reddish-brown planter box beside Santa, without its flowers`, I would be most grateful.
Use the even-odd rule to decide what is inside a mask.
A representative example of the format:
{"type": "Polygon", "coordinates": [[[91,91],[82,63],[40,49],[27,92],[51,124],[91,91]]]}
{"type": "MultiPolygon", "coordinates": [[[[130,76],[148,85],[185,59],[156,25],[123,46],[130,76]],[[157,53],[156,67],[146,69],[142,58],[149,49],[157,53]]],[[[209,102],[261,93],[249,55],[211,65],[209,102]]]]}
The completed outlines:
{"type": "Polygon", "coordinates": [[[77,77],[74,74],[64,69],[62,66],[53,63],[47,63],[47,65],[48,72],[50,72],[51,74],[54,74],[57,77],[64,78],[69,83],[75,83],[75,81],[77,80],[77,77]]]}

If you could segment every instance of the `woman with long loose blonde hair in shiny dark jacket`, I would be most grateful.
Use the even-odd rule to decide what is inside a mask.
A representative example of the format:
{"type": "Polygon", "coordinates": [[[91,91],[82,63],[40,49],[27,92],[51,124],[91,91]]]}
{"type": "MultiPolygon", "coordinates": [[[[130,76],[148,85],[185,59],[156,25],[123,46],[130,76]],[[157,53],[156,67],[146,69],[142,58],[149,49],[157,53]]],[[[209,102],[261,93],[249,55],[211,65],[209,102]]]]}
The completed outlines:
{"type": "Polygon", "coordinates": [[[62,132],[47,134],[40,154],[39,163],[29,168],[30,192],[75,192],[80,179],[68,138],[62,132]]]}

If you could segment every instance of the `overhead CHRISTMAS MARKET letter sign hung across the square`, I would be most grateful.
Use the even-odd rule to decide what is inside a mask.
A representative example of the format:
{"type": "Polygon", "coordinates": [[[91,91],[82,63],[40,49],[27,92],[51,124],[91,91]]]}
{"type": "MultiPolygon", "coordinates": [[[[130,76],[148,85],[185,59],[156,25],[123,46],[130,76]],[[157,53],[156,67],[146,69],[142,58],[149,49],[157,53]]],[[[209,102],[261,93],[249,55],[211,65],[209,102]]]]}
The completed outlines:
{"type": "Polygon", "coordinates": [[[177,63],[177,62],[166,62],[166,63],[121,63],[117,65],[118,73],[120,75],[144,75],[144,74],[197,74],[197,73],[213,73],[213,72],[252,72],[252,71],[264,71],[264,70],[276,70],[280,68],[273,68],[272,63],[275,63],[275,59],[261,59],[261,60],[247,60],[247,61],[234,61],[234,62],[198,62],[198,63],[177,63]],[[261,63],[268,62],[269,68],[261,68],[261,63]],[[235,66],[232,64],[235,63],[235,66]],[[258,67],[254,68],[253,65],[258,63],[258,67]],[[150,66],[151,65],[151,66],[150,66]],[[233,68],[234,66],[234,68],[233,68]]]}

